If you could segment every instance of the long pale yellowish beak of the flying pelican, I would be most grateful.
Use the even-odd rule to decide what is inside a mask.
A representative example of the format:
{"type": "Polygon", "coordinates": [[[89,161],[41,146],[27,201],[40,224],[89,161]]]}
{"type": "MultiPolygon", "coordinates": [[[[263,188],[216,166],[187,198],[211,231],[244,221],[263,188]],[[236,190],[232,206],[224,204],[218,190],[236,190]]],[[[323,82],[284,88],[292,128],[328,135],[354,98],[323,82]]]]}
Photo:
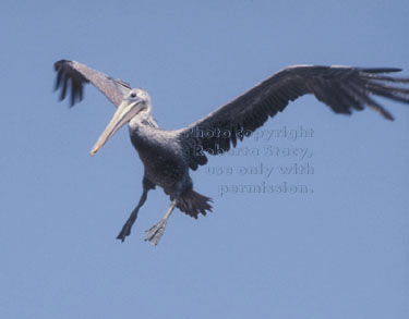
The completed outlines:
{"type": "Polygon", "coordinates": [[[131,121],[131,119],[141,110],[141,100],[123,100],[115,112],[112,120],[109,122],[104,133],[99,136],[98,142],[91,150],[91,156],[94,156],[119,128],[131,121]]]}

